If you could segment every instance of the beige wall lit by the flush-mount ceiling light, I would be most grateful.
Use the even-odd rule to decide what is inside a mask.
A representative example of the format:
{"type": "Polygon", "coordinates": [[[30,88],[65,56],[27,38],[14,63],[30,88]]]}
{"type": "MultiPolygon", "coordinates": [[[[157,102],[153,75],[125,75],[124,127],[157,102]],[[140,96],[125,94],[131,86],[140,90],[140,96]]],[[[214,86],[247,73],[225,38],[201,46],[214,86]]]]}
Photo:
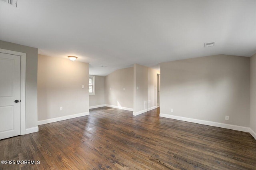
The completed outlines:
{"type": "Polygon", "coordinates": [[[38,55],[38,121],[88,112],[88,79],[88,63],[38,55]]]}

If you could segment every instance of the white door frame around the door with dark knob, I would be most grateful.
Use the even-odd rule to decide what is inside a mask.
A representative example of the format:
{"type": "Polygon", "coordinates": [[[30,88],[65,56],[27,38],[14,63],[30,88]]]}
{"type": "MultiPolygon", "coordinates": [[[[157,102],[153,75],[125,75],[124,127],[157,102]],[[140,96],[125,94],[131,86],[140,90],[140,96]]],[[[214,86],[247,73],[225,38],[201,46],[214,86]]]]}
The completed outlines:
{"type": "Polygon", "coordinates": [[[20,135],[26,134],[26,53],[0,49],[1,53],[20,56],[20,135]]]}

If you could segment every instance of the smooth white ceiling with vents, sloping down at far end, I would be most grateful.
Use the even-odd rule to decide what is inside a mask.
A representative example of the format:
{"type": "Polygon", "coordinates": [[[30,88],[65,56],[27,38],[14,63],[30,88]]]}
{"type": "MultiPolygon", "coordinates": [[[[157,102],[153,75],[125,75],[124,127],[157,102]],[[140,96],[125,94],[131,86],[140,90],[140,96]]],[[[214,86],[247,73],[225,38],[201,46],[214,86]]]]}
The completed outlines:
{"type": "Polygon", "coordinates": [[[91,75],[134,63],[256,53],[256,1],[1,1],[0,39],[78,57],[91,75]],[[204,48],[204,43],[216,42],[204,48]],[[106,67],[100,67],[104,65],[106,67]]]}

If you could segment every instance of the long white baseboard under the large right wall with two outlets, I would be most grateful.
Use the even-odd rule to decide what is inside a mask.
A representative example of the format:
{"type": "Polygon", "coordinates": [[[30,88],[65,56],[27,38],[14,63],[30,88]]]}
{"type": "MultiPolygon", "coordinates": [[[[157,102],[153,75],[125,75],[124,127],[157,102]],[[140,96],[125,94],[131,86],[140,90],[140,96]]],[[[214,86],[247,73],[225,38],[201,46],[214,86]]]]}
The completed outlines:
{"type": "Polygon", "coordinates": [[[225,124],[225,123],[218,123],[218,122],[212,122],[212,121],[204,121],[204,120],[200,120],[200,119],[192,119],[192,118],[168,115],[168,114],[163,114],[163,113],[160,113],[159,116],[160,117],[165,117],[165,118],[170,118],[170,119],[176,119],[176,120],[180,120],[180,121],[198,123],[198,124],[202,124],[202,125],[209,125],[209,126],[214,126],[214,127],[228,128],[228,129],[238,130],[238,131],[242,131],[242,132],[250,132],[250,128],[249,127],[242,127],[242,126],[237,126],[237,125],[229,125],[229,124],[225,124]]]}

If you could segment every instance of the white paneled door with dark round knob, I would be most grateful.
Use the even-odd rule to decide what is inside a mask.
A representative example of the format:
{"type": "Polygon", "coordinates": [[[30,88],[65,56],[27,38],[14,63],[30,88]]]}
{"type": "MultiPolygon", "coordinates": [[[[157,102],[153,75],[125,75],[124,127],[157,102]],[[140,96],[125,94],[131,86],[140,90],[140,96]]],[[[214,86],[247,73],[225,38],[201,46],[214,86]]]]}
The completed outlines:
{"type": "Polygon", "coordinates": [[[0,53],[0,139],[20,135],[20,56],[0,53]]]}

